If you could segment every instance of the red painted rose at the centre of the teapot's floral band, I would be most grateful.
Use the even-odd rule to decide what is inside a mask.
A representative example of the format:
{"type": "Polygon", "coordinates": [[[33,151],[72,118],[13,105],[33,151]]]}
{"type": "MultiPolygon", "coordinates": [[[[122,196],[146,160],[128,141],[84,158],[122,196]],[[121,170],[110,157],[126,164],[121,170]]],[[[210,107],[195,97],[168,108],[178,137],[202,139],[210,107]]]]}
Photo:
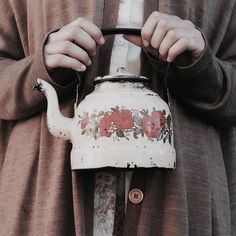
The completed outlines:
{"type": "Polygon", "coordinates": [[[111,116],[113,118],[113,125],[119,130],[124,131],[125,129],[132,129],[134,127],[134,119],[130,110],[114,110],[111,116]]]}

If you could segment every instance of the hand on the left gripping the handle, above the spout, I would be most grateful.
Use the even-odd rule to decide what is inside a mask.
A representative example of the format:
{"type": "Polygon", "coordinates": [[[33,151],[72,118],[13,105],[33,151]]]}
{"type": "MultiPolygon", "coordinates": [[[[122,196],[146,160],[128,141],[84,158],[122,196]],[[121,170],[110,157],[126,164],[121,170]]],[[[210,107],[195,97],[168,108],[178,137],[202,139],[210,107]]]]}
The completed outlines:
{"type": "Polygon", "coordinates": [[[45,65],[49,70],[62,67],[85,71],[97,46],[104,42],[101,30],[80,17],[48,36],[44,45],[45,65]]]}

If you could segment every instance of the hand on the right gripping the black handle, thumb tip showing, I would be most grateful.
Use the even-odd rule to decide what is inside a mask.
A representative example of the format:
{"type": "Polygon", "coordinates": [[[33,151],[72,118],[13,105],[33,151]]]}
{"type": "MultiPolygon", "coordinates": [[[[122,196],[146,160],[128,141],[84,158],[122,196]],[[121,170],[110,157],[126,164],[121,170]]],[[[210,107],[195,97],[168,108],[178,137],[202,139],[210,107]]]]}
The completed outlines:
{"type": "Polygon", "coordinates": [[[168,62],[174,61],[185,51],[191,53],[194,61],[205,48],[201,32],[191,21],[157,11],[153,12],[144,24],[141,38],[131,35],[126,35],[125,38],[168,62]]]}

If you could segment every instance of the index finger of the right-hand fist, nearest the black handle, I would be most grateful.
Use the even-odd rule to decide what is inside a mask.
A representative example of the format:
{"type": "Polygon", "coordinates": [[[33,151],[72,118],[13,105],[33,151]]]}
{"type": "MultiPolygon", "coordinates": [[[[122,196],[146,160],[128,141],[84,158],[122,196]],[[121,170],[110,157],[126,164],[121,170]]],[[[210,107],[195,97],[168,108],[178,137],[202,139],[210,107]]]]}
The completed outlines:
{"type": "Polygon", "coordinates": [[[142,36],[142,40],[143,40],[143,45],[145,47],[148,47],[153,35],[153,32],[156,28],[156,25],[158,23],[158,19],[159,19],[160,13],[155,11],[153,12],[147,19],[147,21],[145,22],[142,31],[141,31],[141,36],[142,36]]]}

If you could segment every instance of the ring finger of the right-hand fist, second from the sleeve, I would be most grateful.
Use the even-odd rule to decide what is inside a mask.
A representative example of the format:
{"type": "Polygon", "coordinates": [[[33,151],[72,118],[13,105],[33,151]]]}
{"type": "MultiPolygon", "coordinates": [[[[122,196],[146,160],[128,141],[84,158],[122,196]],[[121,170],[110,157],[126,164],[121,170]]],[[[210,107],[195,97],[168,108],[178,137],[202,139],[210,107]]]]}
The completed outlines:
{"type": "Polygon", "coordinates": [[[181,30],[170,30],[162,39],[159,46],[159,53],[162,58],[167,58],[169,49],[183,36],[181,30]]]}

